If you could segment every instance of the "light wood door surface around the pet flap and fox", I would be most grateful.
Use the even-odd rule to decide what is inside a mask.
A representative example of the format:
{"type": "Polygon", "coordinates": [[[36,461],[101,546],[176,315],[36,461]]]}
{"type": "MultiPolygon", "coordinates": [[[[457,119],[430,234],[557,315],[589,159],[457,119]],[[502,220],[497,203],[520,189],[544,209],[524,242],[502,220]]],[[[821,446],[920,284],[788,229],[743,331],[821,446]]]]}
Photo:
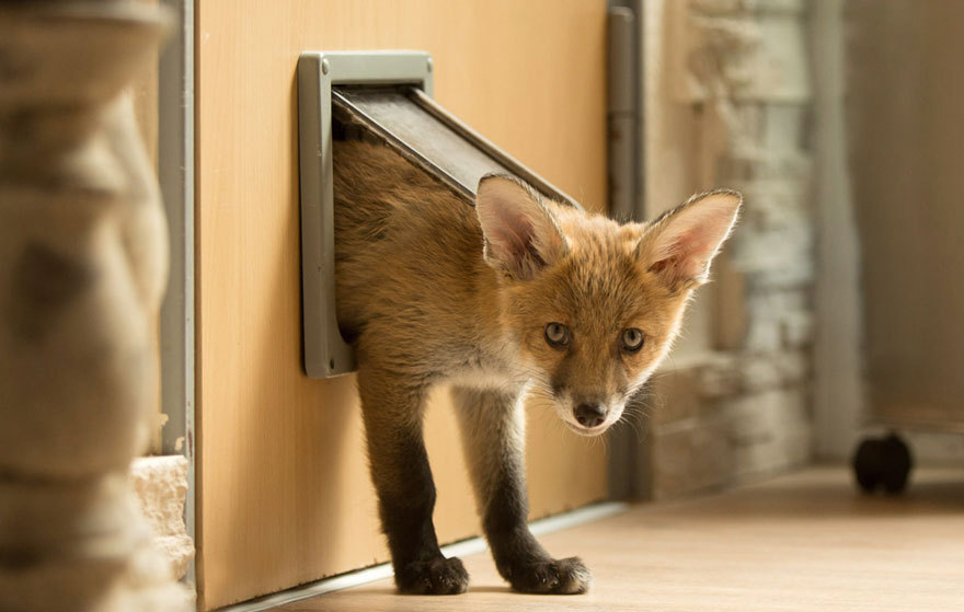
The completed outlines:
{"type": "MultiPolygon", "coordinates": [[[[409,48],[436,99],[588,208],[606,197],[604,0],[197,2],[198,588],[214,609],[387,558],[354,376],[301,370],[296,63],[409,48]]],[[[443,394],[436,526],[478,532],[443,394]]],[[[533,517],[606,495],[599,440],[530,406],[533,517]]]]}

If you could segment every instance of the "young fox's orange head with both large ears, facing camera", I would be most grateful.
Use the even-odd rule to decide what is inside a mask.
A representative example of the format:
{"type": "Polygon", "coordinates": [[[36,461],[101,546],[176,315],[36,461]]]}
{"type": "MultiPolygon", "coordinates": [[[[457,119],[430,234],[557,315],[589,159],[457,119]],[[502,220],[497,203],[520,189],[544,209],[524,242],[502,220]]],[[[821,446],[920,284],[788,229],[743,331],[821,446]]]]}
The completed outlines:
{"type": "Polygon", "coordinates": [[[693,196],[649,224],[619,224],[487,175],[475,210],[501,277],[502,325],[537,392],[585,436],[619,420],[669,351],[741,196],[693,196]]]}

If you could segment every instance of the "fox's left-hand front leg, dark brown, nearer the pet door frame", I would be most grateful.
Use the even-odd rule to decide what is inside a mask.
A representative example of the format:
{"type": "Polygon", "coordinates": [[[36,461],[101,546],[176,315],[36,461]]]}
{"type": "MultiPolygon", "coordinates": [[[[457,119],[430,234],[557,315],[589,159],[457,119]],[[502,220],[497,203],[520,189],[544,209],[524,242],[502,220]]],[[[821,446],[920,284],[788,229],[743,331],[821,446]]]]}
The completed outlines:
{"type": "Polygon", "coordinates": [[[469,575],[461,561],[441,554],[432,522],[435,484],[422,439],[424,389],[365,366],[359,369],[358,388],[395,585],[408,593],[464,592],[469,575]]]}

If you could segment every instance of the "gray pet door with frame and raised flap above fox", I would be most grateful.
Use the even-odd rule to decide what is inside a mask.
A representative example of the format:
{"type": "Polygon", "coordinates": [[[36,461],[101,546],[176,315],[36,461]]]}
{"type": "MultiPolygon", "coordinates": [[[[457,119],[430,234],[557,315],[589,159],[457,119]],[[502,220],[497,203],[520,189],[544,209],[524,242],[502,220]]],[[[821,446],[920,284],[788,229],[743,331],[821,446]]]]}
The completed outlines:
{"type": "Polygon", "coordinates": [[[355,369],[335,317],[332,120],[374,138],[432,174],[468,205],[490,172],[513,174],[544,196],[572,198],[514,160],[432,97],[432,58],[421,51],[306,51],[298,62],[301,295],[305,371],[323,379],[355,369]]]}

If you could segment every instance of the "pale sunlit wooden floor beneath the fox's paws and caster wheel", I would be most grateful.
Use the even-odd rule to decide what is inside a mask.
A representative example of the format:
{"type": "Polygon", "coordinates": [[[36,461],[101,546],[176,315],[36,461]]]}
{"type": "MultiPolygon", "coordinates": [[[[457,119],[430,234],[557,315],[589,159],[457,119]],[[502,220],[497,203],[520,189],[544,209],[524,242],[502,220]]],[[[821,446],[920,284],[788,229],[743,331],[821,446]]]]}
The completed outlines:
{"type": "Polygon", "coordinates": [[[964,469],[915,477],[904,497],[865,497],[844,469],[811,469],[543,536],[593,570],[585,596],[513,593],[486,552],[463,559],[467,594],[399,596],[385,580],[280,610],[962,612],[964,469]]]}

